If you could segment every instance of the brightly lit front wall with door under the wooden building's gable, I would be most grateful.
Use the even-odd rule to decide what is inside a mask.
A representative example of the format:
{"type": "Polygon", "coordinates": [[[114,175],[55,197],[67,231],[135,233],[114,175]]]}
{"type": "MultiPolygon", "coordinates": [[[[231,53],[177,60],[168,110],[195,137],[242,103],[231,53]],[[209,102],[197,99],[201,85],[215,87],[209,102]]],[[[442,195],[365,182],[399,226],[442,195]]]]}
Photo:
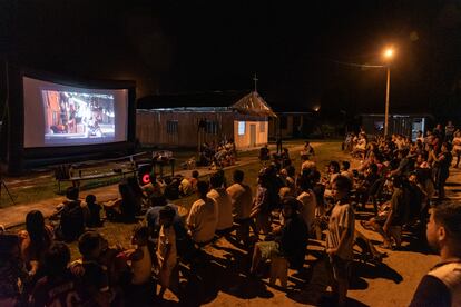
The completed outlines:
{"type": "Polygon", "coordinates": [[[249,148],[252,147],[251,130],[252,125],[255,126],[255,145],[254,147],[259,147],[267,143],[268,141],[268,122],[264,121],[254,121],[254,120],[234,120],[234,140],[235,145],[238,148],[249,148]],[[245,133],[238,135],[238,122],[245,122],[245,133]]]}

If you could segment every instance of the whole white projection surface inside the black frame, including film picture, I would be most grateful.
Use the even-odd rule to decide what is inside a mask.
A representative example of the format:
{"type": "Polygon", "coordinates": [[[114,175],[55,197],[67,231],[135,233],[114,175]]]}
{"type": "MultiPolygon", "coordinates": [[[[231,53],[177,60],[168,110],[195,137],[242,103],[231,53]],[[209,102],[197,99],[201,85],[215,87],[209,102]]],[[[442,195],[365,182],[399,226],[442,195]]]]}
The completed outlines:
{"type": "Polygon", "coordinates": [[[127,140],[128,89],[94,89],[22,78],[24,148],[127,140]]]}

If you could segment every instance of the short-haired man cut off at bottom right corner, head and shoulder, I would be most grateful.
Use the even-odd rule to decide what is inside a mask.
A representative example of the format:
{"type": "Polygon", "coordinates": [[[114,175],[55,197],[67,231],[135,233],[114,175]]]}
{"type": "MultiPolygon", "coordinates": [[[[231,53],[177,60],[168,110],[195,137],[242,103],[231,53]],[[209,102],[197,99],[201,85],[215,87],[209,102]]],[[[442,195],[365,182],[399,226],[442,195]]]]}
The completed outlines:
{"type": "Polygon", "coordinates": [[[461,306],[461,205],[432,208],[425,235],[440,263],[421,279],[410,306],[461,306]]]}

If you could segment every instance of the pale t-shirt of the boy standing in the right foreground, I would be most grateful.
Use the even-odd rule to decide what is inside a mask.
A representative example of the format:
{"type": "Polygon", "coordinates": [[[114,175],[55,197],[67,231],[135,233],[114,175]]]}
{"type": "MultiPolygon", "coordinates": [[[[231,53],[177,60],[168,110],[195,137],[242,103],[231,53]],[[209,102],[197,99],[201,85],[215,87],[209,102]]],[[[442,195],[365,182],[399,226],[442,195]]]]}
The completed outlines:
{"type": "Polygon", "coordinates": [[[351,236],[346,238],[346,241],[343,244],[341,250],[337,250],[336,256],[344,260],[352,260],[354,256],[354,211],[349,204],[336,204],[330,216],[328,232],[326,235],[326,248],[337,248],[340,245],[341,235],[346,229],[350,229],[351,236]]]}

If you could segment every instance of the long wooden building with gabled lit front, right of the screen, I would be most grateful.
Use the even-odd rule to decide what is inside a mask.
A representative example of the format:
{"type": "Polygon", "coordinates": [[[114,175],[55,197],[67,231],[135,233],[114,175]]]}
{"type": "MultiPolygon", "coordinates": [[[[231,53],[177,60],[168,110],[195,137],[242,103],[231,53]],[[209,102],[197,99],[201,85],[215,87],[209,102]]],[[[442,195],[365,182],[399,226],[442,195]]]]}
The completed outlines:
{"type": "Polygon", "coordinates": [[[136,136],[143,146],[198,147],[233,139],[237,149],[268,139],[271,107],[256,92],[215,91],[140,98],[136,136]]]}

